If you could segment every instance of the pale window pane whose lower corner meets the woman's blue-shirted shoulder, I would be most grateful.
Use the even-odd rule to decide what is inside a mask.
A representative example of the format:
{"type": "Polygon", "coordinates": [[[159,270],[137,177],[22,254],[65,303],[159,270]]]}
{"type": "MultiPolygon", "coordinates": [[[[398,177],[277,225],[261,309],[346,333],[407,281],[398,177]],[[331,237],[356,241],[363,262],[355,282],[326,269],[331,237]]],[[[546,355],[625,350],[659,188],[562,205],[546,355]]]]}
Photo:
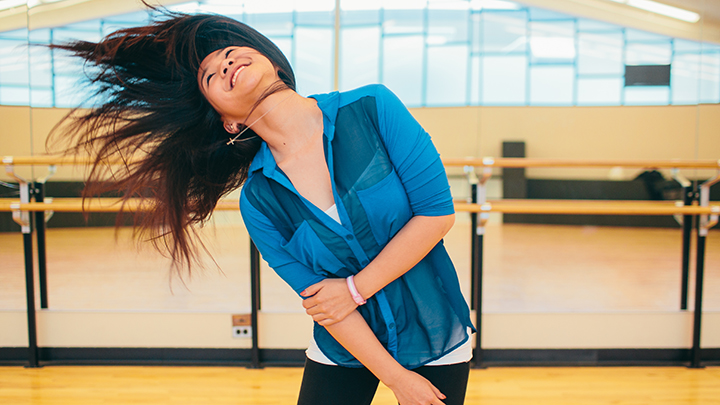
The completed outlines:
{"type": "Polygon", "coordinates": [[[421,35],[385,37],[382,82],[408,106],[422,103],[424,41],[421,35]]]}

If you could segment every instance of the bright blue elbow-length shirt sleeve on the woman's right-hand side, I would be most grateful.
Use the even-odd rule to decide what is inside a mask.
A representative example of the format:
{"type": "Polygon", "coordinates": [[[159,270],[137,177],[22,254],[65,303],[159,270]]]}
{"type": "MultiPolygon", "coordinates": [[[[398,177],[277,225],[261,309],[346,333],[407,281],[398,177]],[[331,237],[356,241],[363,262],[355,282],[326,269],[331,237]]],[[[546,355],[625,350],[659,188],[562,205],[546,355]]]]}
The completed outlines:
{"type": "Polygon", "coordinates": [[[430,135],[387,87],[377,86],[376,103],[380,135],[405,187],[413,214],[453,214],[450,184],[430,135]]]}

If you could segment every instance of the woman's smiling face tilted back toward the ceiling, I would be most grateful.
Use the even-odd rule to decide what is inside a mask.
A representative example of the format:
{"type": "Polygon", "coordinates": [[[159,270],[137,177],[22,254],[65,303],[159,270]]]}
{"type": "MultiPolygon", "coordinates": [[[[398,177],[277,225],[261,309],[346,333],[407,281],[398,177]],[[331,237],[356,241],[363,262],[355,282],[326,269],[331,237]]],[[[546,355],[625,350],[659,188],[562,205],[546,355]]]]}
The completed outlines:
{"type": "Polygon", "coordinates": [[[219,49],[203,59],[198,72],[200,92],[230,133],[238,132],[238,125],[277,80],[277,69],[270,60],[248,47],[219,49]]]}

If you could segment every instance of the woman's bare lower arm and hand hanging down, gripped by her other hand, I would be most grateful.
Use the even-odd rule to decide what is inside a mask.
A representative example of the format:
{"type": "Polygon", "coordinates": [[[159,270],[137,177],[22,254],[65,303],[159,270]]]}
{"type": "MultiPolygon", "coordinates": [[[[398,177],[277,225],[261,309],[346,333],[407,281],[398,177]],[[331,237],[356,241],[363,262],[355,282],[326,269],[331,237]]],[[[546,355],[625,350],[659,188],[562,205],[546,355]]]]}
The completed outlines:
{"type": "Polygon", "coordinates": [[[387,385],[400,405],[443,404],[435,386],[419,374],[405,369],[380,344],[359,312],[353,311],[326,329],[345,349],[387,385]]]}

